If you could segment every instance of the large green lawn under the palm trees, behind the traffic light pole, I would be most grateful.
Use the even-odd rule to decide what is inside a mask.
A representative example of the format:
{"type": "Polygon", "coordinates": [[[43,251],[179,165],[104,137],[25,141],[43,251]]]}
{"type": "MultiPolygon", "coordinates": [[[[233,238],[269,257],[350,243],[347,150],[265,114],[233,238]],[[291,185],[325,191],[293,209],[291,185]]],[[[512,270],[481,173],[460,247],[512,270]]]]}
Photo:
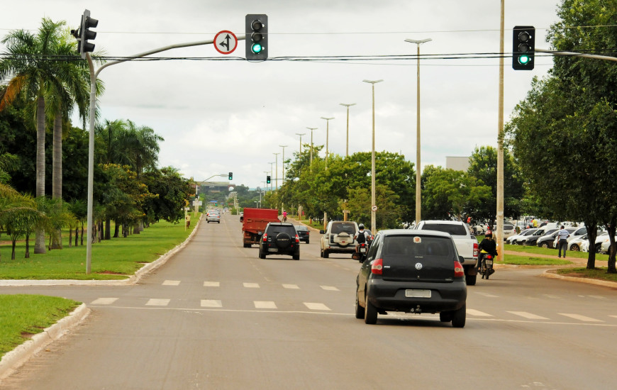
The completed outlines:
{"type": "MultiPolygon", "coordinates": [[[[86,274],[86,245],[68,247],[68,235],[62,250],[48,250],[34,255],[34,239],[30,240],[30,258],[24,258],[26,244],[18,243],[16,260],[11,260],[11,244],[0,246],[0,279],[126,279],[142,263],[157,260],[160,255],[182,243],[196,225],[199,216],[193,216],[191,228],[184,230],[182,223],[160,221],[140,234],[127,238],[112,238],[92,244],[91,273],[86,274]]],[[[3,238],[6,236],[3,235],[3,238]]]]}

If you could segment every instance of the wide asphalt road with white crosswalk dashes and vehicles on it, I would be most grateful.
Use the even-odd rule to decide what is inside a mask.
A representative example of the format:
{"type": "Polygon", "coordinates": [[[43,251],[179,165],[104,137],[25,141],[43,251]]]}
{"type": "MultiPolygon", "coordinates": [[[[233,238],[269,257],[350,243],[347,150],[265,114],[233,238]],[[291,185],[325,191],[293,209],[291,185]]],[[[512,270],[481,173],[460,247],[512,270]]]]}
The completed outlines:
{"type": "MultiPolygon", "coordinates": [[[[91,315],[1,389],[615,389],[617,291],[498,269],[469,286],[467,325],[353,315],[359,264],[257,257],[240,222],[201,223],[135,286],[0,287],[91,315]]],[[[93,260],[96,261],[96,260],[93,260]]]]}

